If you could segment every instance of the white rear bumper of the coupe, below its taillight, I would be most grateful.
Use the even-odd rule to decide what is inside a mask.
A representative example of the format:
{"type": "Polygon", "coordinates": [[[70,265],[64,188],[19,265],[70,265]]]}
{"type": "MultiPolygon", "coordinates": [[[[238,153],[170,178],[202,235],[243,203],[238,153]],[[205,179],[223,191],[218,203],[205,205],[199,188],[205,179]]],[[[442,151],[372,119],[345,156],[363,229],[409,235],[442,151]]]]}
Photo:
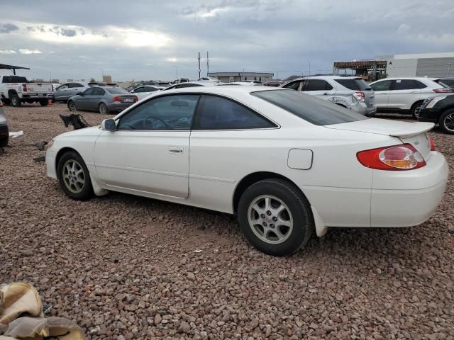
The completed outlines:
{"type": "Polygon", "coordinates": [[[443,198],[449,171],[439,152],[431,152],[426,163],[409,171],[374,171],[371,227],[411,227],[431,217],[443,198]]]}

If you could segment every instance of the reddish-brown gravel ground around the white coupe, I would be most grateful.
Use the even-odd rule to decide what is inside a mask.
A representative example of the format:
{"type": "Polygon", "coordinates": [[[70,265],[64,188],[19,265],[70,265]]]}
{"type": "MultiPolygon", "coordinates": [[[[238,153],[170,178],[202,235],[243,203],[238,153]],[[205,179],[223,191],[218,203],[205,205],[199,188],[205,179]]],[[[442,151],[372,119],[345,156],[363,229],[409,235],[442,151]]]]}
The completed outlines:
{"type": "Polygon", "coordinates": [[[24,136],[0,154],[0,283],[32,283],[87,339],[454,339],[454,136],[430,133],[451,176],[428,222],[331,229],[274,258],[230,215],[121,193],[67,198],[31,146],[67,130],[58,113],[66,106],[6,107],[24,136]]]}

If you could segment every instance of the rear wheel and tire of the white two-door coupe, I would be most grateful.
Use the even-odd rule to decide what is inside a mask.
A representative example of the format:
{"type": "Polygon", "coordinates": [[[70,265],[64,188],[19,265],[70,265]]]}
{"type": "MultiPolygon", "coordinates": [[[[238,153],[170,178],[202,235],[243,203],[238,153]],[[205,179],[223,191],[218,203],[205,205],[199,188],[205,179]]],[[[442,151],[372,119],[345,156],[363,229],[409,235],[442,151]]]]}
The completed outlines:
{"type": "Polygon", "coordinates": [[[247,188],[238,203],[238,222],[255,248],[273,256],[294,254],[314,230],[309,202],[292,183],[282,179],[266,179],[247,188]]]}

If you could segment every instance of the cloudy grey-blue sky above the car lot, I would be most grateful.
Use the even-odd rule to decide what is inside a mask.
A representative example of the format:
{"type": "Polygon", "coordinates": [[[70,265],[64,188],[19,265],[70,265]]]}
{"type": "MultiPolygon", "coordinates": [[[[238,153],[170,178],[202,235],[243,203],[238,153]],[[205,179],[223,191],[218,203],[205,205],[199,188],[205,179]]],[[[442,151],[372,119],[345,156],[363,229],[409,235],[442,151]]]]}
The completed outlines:
{"type": "Polygon", "coordinates": [[[196,79],[206,51],[211,72],[278,77],[454,51],[453,0],[15,0],[0,13],[0,63],[40,79],[196,79]]]}

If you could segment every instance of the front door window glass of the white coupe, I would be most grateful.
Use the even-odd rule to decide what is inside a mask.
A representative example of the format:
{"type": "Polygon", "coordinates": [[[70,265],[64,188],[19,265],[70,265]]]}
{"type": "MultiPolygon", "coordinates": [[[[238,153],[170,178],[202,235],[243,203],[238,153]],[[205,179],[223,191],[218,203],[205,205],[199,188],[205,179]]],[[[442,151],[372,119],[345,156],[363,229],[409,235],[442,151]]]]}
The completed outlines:
{"type": "Polygon", "coordinates": [[[199,95],[162,96],[121,116],[117,130],[191,130],[199,95]]]}

